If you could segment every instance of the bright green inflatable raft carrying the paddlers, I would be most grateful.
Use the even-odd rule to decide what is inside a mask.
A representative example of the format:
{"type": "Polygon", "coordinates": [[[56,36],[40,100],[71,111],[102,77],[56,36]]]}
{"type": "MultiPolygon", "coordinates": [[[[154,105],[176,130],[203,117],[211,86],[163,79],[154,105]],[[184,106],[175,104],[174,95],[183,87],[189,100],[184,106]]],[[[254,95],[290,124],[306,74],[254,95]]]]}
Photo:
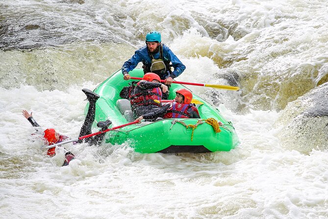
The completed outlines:
{"type": "MultiPolygon", "coordinates": [[[[135,69],[129,74],[132,77],[142,78],[142,69],[135,69]]],[[[130,105],[127,100],[122,100],[119,96],[124,86],[129,86],[129,82],[135,80],[123,80],[122,71],[119,70],[96,87],[94,92],[100,95],[96,103],[96,117],[94,126],[99,121],[110,119],[111,127],[116,127],[134,121],[130,105]],[[120,101],[126,101],[127,110],[122,109],[120,101]],[[122,111],[122,112],[121,112],[122,111]]],[[[186,88],[181,84],[173,83],[170,89],[169,99],[174,99],[175,91],[179,88],[186,88]]],[[[188,88],[187,88],[188,89],[188,88]]],[[[231,122],[228,122],[220,112],[193,94],[202,104],[198,104],[202,124],[199,124],[194,132],[185,125],[196,125],[199,119],[176,119],[185,125],[175,122],[175,119],[163,119],[156,122],[142,122],[106,133],[105,141],[111,144],[123,144],[127,142],[136,152],[140,153],[207,153],[215,151],[229,151],[239,143],[237,134],[231,122]],[[221,132],[216,133],[213,127],[204,122],[207,118],[214,118],[224,125],[220,127],[221,132]],[[192,139],[191,139],[192,138],[192,139]]],[[[126,103],[125,102],[125,103],[126,103]]],[[[123,108],[124,108],[123,107],[123,108]]],[[[85,114],[88,105],[85,108],[85,114]]]]}

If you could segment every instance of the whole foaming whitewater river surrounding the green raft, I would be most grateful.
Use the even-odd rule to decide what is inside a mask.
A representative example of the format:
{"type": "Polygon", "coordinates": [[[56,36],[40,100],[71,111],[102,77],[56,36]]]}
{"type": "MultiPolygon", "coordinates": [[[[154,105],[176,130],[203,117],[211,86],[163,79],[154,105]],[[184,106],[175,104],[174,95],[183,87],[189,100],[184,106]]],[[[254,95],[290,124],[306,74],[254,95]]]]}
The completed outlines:
{"type": "Polygon", "coordinates": [[[172,2],[0,1],[1,219],[328,219],[328,2],[172,2]],[[197,155],[68,144],[69,166],[62,149],[47,157],[22,110],[77,137],[81,89],[154,29],[187,67],[179,81],[241,87],[189,87],[240,144],[197,155]]]}

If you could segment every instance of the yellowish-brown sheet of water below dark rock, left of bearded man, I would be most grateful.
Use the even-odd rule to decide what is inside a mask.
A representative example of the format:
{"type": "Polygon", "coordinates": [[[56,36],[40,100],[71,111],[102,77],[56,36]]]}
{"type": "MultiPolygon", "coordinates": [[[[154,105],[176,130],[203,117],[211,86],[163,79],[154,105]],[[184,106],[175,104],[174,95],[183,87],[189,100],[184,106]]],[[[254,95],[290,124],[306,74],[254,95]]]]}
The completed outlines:
{"type": "Polygon", "coordinates": [[[40,90],[66,90],[86,81],[99,83],[122,67],[118,60],[127,58],[127,53],[133,53],[133,48],[112,43],[72,43],[30,52],[0,52],[1,87],[27,84],[40,90]]]}

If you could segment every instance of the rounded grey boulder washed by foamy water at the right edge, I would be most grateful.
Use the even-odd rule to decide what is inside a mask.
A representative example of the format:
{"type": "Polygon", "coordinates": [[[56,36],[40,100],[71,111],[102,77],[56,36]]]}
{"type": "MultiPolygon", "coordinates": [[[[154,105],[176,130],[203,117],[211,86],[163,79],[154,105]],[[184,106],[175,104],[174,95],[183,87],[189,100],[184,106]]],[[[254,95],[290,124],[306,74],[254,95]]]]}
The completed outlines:
{"type": "Polygon", "coordinates": [[[275,125],[285,148],[304,154],[328,150],[328,82],[289,103],[275,125]]]}

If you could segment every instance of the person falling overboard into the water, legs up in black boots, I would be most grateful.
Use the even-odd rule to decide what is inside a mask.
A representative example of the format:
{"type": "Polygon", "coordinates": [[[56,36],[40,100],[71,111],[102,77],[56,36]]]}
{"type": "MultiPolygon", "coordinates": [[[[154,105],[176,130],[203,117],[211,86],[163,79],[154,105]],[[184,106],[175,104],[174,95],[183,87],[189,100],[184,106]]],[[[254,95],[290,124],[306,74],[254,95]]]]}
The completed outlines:
{"type": "MultiPolygon", "coordinates": [[[[89,109],[88,109],[87,115],[85,117],[84,123],[81,127],[79,137],[91,134],[92,123],[95,121],[96,102],[99,99],[99,95],[92,92],[89,89],[83,88],[82,91],[85,93],[85,95],[87,96],[87,99],[89,101],[89,109]]],[[[39,131],[40,131],[41,127],[32,117],[32,112],[28,113],[24,109],[23,115],[32,124],[32,126],[36,127],[37,133],[40,133],[39,131]]],[[[98,122],[97,126],[99,128],[101,128],[101,131],[104,131],[108,128],[108,126],[111,123],[112,122],[110,120],[101,121],[101,122],[98,122]]],[[[54,129],[46,129],[42,132],[42,135],[45,139],[45,144],[47,144],[47,145],[56,144],[56,143],[62,142],[63,140],[69,138],[67,136],[60,135],[54,129]]],[[[88,137],[88,138],[85,138],[85,141],[88,142],[89,145],[99,145],[101,143],[104,135],[105,135],[105,133],[102,133],[102,134],[94,136],[94,137],[88,137]]],[[[83,140],[77,141],[77,143],[82,143],[82,142],[83,142],[83,140]]],[[[47,155],[50,157],[54,156],[55,155],[55,147],[49,148],[47,151],[47,155]]],[[[70,163],[70,161],[73,160],[74,158],[75,158],[74,154],[72,154],[70,151],[66,152],[65,153],[65,161],[62,166],[68,165],[70,163]]]]}

